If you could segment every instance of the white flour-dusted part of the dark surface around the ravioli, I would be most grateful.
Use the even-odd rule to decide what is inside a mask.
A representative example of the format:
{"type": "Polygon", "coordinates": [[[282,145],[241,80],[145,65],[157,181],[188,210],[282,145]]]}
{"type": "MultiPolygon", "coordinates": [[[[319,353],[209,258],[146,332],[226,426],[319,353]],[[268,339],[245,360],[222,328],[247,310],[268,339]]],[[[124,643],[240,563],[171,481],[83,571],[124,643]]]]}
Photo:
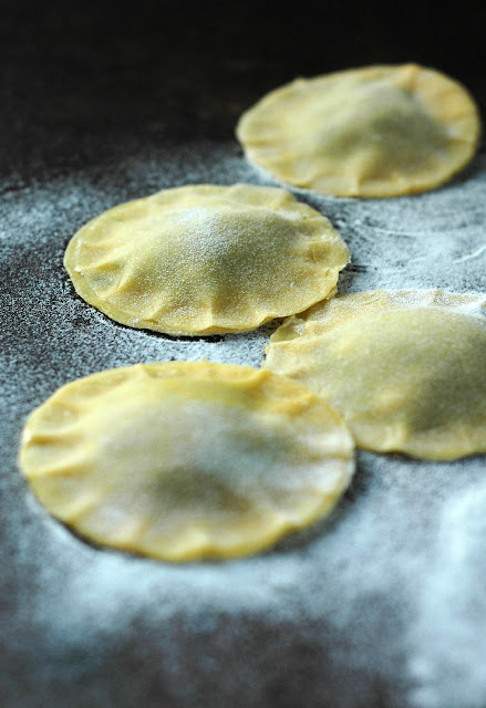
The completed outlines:
{"type": "MultiPolygon", "coordinates": [[[[232,143],[136,155],[121,146],[120,155],[69,178],[2,186],[6,705],[480,706],[484,457],[431,464],[360,454],[344,499],[312,532],[254,559],[184,568],[95,550],[33,499],[14,461],[20,430],[60,385],[139,361],[205,356],[258,366],[275,329],[167,337],[117,325],[74,294],[62,256],[95,214],[190,181],[271,184],[232,143]]],[[[350,247],[341,292],[484,291],[484,156],[416,197],[294,194],[350,247]]]]}

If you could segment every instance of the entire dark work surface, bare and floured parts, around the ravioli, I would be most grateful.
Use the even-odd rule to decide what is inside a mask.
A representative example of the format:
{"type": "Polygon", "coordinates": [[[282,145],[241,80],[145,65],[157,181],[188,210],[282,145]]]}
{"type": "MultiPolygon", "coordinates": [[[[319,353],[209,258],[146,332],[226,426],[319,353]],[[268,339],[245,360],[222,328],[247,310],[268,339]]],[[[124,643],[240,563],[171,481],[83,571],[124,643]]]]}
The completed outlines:
{"type": "MultiPolygon", "coordinates": [[[[15,465],[25,416],[66,381],[141,360],[258,366],[272,327],[193,342],[108,321],[62,268],[82,223],[192,179],[268,184],[235,124],[297,75],[414,61],[462,81],[484,114],[485,14],[479,2],[2,3],[1,708],[485,705],[484,458],[359,454],[309,537],[184,568],[83,543],[15,465]]],[[[384,202],[300,195],[350,244],[342,290],[484,292],[485,165],[384,202]]]]}

